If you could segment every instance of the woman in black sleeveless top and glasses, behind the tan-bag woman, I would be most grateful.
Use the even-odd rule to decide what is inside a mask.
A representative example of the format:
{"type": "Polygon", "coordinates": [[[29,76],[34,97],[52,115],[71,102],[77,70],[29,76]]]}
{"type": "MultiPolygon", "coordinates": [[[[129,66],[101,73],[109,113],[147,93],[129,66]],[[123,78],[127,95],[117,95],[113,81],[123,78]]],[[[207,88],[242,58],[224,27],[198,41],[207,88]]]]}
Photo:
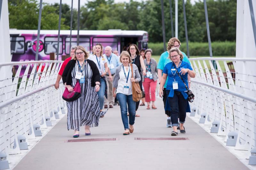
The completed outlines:
{"type": "MultiPolygon", "coordinates": [[[[128,51],[128,53],[131,55],[132,64],[135,64],[135,65],[138,67],[139,73],[140,73],[140,77],[142,77],[142,74],[143,74],[143,75],[146,75],[146,67],[145,67],[143,58],[142,58],[142,56],[140,55],[140,51],[139,51],[138,47],[137,47],[135,44],[131,44],[131,45],[128,47],[127,51],[128,51]],[[142,69],[142,70],[141,70],[141,69],[142,69]],[[142,74],[141,74],[141,71],[142,71],[142,74]]],[[[142,79],[140,80],[139,84],[140,84],[140,89],[141,89],[141,91],[142,91],[142,79]]],[[[140,105],[140,101],[139,101],[139,102],[136,102],[135,111],[138,110],[139,105],[140,105]]],[[[140,117],[140,115],[138,115],[138,114],[136,114],[135,116],[136,116],[136,117],[140,117]]]]}

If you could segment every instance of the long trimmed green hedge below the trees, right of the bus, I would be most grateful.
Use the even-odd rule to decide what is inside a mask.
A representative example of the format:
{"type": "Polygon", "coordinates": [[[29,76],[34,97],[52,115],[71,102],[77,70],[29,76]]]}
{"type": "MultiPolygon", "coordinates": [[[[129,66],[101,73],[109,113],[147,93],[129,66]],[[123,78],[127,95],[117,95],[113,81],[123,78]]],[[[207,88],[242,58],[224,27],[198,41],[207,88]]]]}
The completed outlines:
{"type": "MultiPolygon", "coordinates": [[[[166,43],[167,47],[167,43],[166,43]]],[[[190,56],[210,56],[208,43],[205,42],[188,42],[190,56]]],[[[148,43],[148,48],[151,48],[153,55],[161,55],[164,47],[163,43],[148,43]]],[[[181,43],[180,50],[187,54],[186,42],[181,43]]],[[[213,56],[235,56],[236,42],[222,41],[212,42],[213,56]]]]}

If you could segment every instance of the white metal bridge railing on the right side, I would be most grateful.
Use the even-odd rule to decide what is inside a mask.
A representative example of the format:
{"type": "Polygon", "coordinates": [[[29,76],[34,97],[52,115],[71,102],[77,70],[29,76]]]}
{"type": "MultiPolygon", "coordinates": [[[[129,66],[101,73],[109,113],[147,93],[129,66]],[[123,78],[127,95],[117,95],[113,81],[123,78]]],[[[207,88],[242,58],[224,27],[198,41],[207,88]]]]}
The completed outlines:
{"type": "Polygon", "coordinates": [[[225,136],[228,146],[250,152],[256,144],[256,59],[189,60],[196,72],[190,87],[195,94],[190,116],[225,136]]]}

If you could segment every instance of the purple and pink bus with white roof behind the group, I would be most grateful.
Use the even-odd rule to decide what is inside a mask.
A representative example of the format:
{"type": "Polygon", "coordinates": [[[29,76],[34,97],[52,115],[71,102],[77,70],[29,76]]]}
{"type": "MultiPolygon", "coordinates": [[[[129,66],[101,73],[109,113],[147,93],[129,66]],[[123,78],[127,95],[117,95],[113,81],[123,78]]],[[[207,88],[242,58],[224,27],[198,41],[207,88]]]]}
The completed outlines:
{"type": "MultiPolygon", "coordinates": [[[[72,31],[71,46],[76,45],[77,31],[72,31]]],[[[79,31],[79,45],[90,51],[96,43],[104,47],[111,46],[119,54],[126,50],[130,44],[137,44],[139,49],[147,48],[148,32],[146,31],[79,31]]],[[[35,60],[37,30],[12,30],[10,29],[12,61],[35,60]]],[[[60,31],[59,60],[62,55],[69,55],[70,31],[60,31]]],[[[58,30],[41,30],[39,40],[38,60],[50,60],[50,53],[57,53],[58,30]]],[[[56,60],[56,58],[55,58],[56,60]]]]}

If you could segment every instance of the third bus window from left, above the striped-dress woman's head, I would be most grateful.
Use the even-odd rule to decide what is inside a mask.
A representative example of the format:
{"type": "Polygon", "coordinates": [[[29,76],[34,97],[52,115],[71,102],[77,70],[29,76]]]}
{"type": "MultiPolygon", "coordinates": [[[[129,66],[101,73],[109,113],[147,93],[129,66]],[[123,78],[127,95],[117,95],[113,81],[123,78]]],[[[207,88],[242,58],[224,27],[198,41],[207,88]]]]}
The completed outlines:
{"type": "MultiPolygon", "coordinates": [[[[70,37],[65,39],[65,53],[69,54],[70,47],[69,47],[70,37]]],[[[71,38],[71,46],[77,45],[76,37],[71,38]]],[[[83,46],[85,51],[90,51],[90,38],[89,37],[79,37],[79,46],[83,46]]]]}

